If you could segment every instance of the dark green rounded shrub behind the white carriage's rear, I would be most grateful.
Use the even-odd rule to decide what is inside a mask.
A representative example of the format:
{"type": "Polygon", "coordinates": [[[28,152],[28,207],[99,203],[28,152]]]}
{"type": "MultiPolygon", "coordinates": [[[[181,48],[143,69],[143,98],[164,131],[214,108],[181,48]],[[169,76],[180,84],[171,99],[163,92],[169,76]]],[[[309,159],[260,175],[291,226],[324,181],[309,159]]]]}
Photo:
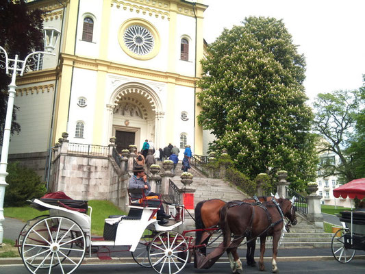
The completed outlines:
{"type": "Polygon", "coordinates": [[[8,164],[5,188],[4,206],[24,206],[27,199],[42,197],[45,192],[45,183],[32,169],[19,165],[19,162],[8,164]]]}

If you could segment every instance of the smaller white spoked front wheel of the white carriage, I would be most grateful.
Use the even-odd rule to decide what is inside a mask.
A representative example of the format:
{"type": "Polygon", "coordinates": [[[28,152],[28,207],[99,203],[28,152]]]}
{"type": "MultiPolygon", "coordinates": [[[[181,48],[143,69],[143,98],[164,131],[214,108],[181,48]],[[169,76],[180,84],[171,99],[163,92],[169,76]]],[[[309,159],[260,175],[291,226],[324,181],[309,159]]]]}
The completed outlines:
{"type": "Polygon", "coordinates": [[[188,262],[189,247],[178,232],[160,232],[149,245],[149,263],[157,273],[175,274],[188,262]]]}

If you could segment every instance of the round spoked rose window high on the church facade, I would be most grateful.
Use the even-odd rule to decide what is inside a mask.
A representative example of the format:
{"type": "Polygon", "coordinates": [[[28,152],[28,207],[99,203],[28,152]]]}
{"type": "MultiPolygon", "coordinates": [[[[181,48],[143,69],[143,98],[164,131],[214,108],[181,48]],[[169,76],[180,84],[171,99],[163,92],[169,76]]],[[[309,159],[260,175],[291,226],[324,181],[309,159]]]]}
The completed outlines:
{"type": "Polygon", "coordinates": [[[146,55],[153,49],[153,35],[148,29],[140,25],[131,25],[123,36],[125,46],[138,55],[146,55]]]}

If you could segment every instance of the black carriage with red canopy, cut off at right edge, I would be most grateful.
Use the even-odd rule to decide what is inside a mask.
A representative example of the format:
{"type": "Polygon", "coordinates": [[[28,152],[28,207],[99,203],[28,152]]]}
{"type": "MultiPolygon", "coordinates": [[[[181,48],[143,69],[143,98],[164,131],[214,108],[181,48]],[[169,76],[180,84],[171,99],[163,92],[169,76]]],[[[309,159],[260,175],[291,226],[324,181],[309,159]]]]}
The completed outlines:
{"type": "MultiPolygon", "coordinates": [[[[338,198],[363,199],[365,197],[365,178],[355,179],[333,190],[333,196],[338,198]]],[[[352,200],[351,200],[352,205],[352,200]]],[[[331,249],[333,257],[338,262],[350,262],[356,250],[365,251],[365,208],[340,212],[343,228],[332,238],[331,249]]]]}

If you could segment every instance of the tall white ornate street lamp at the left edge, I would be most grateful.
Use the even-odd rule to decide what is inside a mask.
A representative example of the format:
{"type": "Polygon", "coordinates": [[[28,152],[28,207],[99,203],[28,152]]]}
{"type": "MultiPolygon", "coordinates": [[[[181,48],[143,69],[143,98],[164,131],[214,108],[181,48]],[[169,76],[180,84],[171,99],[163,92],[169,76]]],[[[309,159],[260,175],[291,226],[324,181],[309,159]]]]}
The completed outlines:
{"type": "Polygon", "coordinates": [[[14,59],[8,58],[8,53],[6,53],[3,47],[0,47],[0,57],[5,57],[5,62],[0,61],[0,69],[5,69],[6,74],[12,76],[12,82],[8,85],[9,87],[9,98],[8,98],[8,108],[6,110],[6,117],[5,117],[5,127],[4,127],[4,135],[3,135],[3,147],[1,149],[1,160],[0,160],[0,245],[3,243],[3,221],[4,214],[3,214],[3,204],[4,204],[4,197],[5,197],[5,186],[8,184],[5,182],[5,177],[8,175],[6,172],[6,167],[8,166],[8,153],[9,153],[9,142],[10,142],[10,128],[12,126],[12,113],[14,107],[14,96],[15,96],[15,89],[17,88],[15,81],[16,81],[16,74],[19,73],[20,76],[26,71],[29,65],[34,64],[37,61],[36,56],[41,54],[50,54],[53,49],[55,49],[55,42],[60,35],[60,32],[53,28],[53,27],[46,27],[43,29],[45,34],[45,51],[36,51],[33,53],[29,53],[24,61],[18,60],[18,55],[15,55],[14,59]]]}

